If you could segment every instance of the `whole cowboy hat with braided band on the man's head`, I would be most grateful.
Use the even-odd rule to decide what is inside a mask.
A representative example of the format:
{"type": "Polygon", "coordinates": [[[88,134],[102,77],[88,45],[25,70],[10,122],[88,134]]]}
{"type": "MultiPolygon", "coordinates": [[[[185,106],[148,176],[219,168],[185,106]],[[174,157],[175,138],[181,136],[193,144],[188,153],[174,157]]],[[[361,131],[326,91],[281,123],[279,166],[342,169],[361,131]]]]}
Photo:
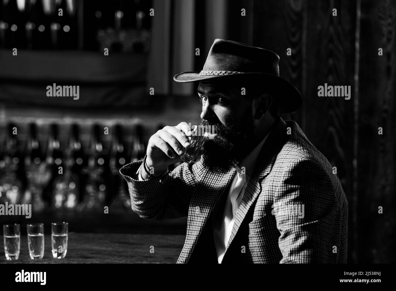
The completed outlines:
{"type": "Polygon", "coordinates": [[[179,83],[227,76],[259,77],[260,84],[278,99],[278,112],[296,111],[303,103],[300,92],[279,77],[279,56],[268,49],[216,38],[201,72],[183,72],[173,77],[179,83]]]}

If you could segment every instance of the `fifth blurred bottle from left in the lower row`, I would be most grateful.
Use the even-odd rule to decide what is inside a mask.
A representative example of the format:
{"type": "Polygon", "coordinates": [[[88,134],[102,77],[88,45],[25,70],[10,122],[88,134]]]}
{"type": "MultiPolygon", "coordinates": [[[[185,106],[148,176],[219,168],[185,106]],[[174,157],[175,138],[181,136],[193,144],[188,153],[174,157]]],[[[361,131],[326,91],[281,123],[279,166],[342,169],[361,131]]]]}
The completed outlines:
{"type": "Polygon", "coordinates": [[[105,151],[103,150],[102,132],[99,125],[94,125],[92,130],[91,149],[89,151],[88,166],[86,168],[87,181],[83,201],[78,206],[79,211],[103,210],[106,200],[105,180],[105,151]]]}

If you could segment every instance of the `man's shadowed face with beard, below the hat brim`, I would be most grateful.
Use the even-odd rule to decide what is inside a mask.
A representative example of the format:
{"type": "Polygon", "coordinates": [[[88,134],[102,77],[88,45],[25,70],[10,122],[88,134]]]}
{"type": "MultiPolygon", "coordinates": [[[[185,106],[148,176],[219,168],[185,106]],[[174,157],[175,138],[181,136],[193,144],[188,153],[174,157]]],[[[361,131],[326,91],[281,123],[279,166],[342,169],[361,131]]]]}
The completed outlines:
{"type": "Polygon", "coordinates": [[[202,102],[200,125],[214,126],[217,133],[204,145],[202,164],[227,173],[246,156],[247,145],[254,140],[252,101],[226,79],[200,81],[197,93],[202,102]]]}

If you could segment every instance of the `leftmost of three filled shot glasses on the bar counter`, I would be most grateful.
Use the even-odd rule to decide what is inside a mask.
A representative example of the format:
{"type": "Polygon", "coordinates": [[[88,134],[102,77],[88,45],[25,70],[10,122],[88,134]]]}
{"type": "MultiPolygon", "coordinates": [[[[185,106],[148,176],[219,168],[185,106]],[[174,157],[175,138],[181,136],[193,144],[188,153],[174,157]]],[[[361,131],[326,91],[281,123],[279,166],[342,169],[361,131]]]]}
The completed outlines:
{"type": "Polygon", "coordinates": [[[5,224],[3,225],[4,234],[4,253],[7,261],[17,260],[21,248],[21,225],[5,224]]]}

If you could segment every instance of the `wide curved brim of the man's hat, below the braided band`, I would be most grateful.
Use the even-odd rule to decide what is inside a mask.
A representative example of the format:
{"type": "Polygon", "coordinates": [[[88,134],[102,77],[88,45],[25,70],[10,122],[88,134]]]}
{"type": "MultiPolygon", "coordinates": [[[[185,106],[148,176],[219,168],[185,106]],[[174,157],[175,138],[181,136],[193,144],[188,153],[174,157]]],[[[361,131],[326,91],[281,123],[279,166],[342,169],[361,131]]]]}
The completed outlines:
{"type": "Polygon", "coordinates": [[[241,74],[230,74],[230,75],[205,75],[202,76],[199,72],[183,72],[177,74],[173,77],[178,83],[188,83],[195,81],[202,81],[207,79],[216,79],[216,78],[227,78],[228,76],[257,76],[263,77],[262,85],[267,85],[269,88],[268,93],[278,98],[278,112],[280,113],[290,113],[298,110],[303,104],[303,98],[301,97],[300,92],[296,87],[291,85],[291,83],[287,82],[285,79],[281,77],[265,74],[265,73],[241,73],[241,74]]]}

